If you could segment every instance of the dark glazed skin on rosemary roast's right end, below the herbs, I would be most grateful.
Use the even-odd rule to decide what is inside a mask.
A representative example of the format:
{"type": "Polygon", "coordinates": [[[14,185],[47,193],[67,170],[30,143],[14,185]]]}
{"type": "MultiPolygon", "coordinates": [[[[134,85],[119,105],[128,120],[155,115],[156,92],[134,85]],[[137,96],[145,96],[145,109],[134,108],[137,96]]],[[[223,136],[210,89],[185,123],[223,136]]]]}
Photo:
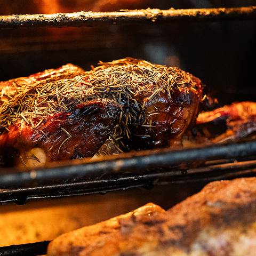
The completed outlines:
{"type": "Polygon", "coordinates": [[[132,126],[131,141],[135,150],[177,146],[184,133],[194,124],[200,97],[191,88],[176,90],[173,97],[160,93],[153,101],[146,100],[143,124],[132,126]]]}

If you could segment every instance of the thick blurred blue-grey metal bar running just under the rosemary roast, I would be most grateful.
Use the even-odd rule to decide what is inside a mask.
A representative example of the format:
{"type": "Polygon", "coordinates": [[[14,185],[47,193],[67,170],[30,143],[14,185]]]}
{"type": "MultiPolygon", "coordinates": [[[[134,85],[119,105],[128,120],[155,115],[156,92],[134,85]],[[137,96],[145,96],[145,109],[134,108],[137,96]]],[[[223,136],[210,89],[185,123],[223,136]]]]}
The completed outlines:
{"type": "Polygon", "coordinates": [[[141,151],[122,154],[105,161],[87,162],[84,159],[78,162],[65,162],[59,166],[44,170],[36,169],[21,172],[20,170],[2,169],[0,174],[0,194],[5,194],[5,189],[8,188],[23,188],[23,192],[25,192],[25,187],[33,187],[34,185],[63,184],[67,183],[67,181],[79,183],[109,178],[115,181],[116,178],[121,180],[126,177],[138,178],[166,171],[169,172],[170,176],[178,177],[182,175],[183,170],[191,168],[191,163],[202,164],[205,161],[240,159],[255,155],[256,141],[254,140],[251,142],[231,143],[230,145],[217,144],[183,150],[141,151]]]}

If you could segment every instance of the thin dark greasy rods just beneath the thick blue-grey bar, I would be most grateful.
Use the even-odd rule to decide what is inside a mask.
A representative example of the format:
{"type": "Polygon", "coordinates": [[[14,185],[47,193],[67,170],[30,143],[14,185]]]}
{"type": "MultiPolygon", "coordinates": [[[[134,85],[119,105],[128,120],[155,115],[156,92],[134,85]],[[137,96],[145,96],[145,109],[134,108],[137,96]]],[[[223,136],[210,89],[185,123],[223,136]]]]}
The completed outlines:
{"type": "MultiPolygon", "coordinates": [[[[186,185],[191,182],[211,182],[222,179],[252,177],[256,173],[256,161],[218,164],[214,166],[190,169],[184,172],[155,172],[145,175],[111,175],[98,179],[88,179],[82,182],[62,182],[56,185],[43,185],[28,188],[13,188],[0,190],[0,203],[13,202],[25,204],[31,199],[60,198],[92,194],[105,194],[111,191],[131,188],[153,188],[159,185],[179,183],[186,185]],[[118,177],[120,176],[120,177],[118,177]]],[[[0,254],[1,255],[1,254],[0,254]]]]}

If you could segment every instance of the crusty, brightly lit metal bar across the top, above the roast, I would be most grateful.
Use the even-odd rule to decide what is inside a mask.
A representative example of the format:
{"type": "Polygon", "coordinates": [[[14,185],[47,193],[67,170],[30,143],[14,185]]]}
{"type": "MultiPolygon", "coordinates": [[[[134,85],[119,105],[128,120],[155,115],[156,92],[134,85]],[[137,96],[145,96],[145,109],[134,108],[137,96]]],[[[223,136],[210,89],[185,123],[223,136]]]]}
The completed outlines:
{"type": "Polygon", "coordinates": [[[38,27],[92,27],[174,21],[218,21],[254,19],[256,6],[217,9],[121,10],[119,12],[75,12],[0,16],[0,29],[38,27]]]}

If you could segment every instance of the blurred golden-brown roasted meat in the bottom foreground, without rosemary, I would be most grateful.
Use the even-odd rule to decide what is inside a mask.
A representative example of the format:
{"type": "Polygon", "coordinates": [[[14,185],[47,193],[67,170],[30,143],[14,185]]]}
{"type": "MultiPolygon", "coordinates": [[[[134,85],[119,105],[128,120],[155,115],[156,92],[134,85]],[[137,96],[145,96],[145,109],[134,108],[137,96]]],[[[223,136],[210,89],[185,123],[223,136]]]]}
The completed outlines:
{"type": "Polygon", "coordinates": [[[240,256],[256,251],[256,178],[209,183],[169,211],[134,212],[63,234],[48,256],[240,256]]]}

